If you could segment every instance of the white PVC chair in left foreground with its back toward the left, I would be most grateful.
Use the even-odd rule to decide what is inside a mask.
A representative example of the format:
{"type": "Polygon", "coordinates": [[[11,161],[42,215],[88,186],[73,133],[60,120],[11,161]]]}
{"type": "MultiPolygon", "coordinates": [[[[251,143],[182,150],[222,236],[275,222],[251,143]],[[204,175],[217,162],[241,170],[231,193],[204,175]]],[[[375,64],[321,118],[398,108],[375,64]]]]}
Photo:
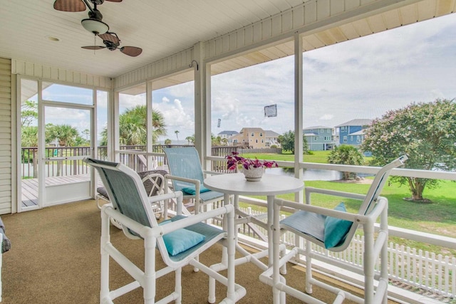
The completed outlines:
{"type": "Polygon", "coordinates": [[[208,276],[227,285],[227,297],[221,303],[235,303],[245,295],[246,290],[234,283],[234,207],[232,205],[204,214],[182,216],[180,215],[182,214],[182,192],[157,195],[151,199],[147,197],[142,181],[133,169],[123,164],[98,159],[87,158],[85,161],[98,170],[111,202],[111,204],[103,205],[101,209],[100,303],[113,303],[115,298],[138,287],[144,289],[144,303],[156,303],[157,278],[172,272],[175,272],[175,290],[170,290],[170,293],[157,303],[172,301],[181,303],[181,273],[182,267],[186,265],[199,268],[208,276]],[[177,201],[178,215],[159,225],[150,203],[167,199],[177,201]],[[227,219],[227,231],[202,222],[222,215],[227,219]],[[145,266],[143,271],[110,243],[110,218],[122,225],[123,232],[129,239],[144,241],[145,266]],[[176,241],[172,242],[172,238],[175,238],[176,241]],[[197,256],[214,243],[222,243],[227,247],[229,264],[227,277],[197,261],[197,256]],[[182,248],[182,246],[184,247],[182,248]],[[167,265],[158,271],[155,269],[156,249],[167,265]],[[110,290],[110,257],[134,278],[132,283],[116,290],[110,290]]]}

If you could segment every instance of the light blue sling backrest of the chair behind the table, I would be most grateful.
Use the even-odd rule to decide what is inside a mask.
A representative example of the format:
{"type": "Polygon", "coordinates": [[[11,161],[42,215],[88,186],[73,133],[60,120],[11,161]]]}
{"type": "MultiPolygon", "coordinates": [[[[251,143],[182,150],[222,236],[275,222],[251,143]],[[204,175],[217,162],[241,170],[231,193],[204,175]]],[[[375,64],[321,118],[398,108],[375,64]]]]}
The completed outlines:
{"type": "MultiPolygon", "coordinates": [[[[201,184],[204,175],[201,167],[201,160],[195,147],[163,148],[168,159],[170,174],[176,177],[197,179],[201,184]]],[[[172,180],[175,191],[182,191],[182,188],[191,187],[193,184],[172,180]]]]}

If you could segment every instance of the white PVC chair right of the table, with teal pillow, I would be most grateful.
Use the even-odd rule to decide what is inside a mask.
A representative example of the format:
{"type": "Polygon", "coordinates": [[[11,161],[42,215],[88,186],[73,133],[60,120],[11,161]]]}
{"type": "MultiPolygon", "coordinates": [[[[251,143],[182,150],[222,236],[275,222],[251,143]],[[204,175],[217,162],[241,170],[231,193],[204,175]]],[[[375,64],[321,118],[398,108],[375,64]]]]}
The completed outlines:
{"type": "Polygon", "coordinates": [[[273,266],[261,274],[260,280],[273,287],[274,303],[285,303],[285,293],[305,303],[319,303],[311,296],[312,285],[325,288],[335,293],[333,303],[342,303],[344,299],[353,300],[356,303],[387,303],[388,295],[388,265],[387,265],[387,242],[388,242],[388,200],[379,196],[388,175],[395,167],[402,165],[408,159],[405,155],[385,165],[375,175],[371,187],[366,195],[338,192],[325,189],[306,187],[306,204],[298,204],[294,201],[283,199],[274,200],[274,262],[273,266]],[[311,206],[311,194],[326,194],[341,196],[349,199],[359,199],[362,202],[357,214],[344,211],[345,207],[339,205],[336,209],[327,209],[311,206]],[[280,220],[281,207],[294,209],[295,212],[286,219],[280,220]],[[374,224],[380,217],[380,230],[374,237],[374,224]],[[363,227],[364,232],[364,255],[363,268],[353,266],[350,263],[336,260],[325,254],[312,251],[312,243],[326,248],[328,251],[339,252],[345,250],[356,233],[358,226],[363,227]],[[296,236],[305,239],[305,248],[294,247],[289,253],[280,257],[279,246],[281,234],[291,231],[296,236]],[[289,285],[281,276],[286,273],[286,262],[299,256],[306,257],[306,293],[289,285]],[[380,257],[380,273],[375,273],[375,262],[380,257]],[[337,266],[348,271],[353,271],[364,276],[364,297],[360,298],[346,290],[333,287],[327,283],[316,280],[312,276],[312,260],[316,259],[337,266]],[[375,288],[374,281],[377,287],[375,288]]]}

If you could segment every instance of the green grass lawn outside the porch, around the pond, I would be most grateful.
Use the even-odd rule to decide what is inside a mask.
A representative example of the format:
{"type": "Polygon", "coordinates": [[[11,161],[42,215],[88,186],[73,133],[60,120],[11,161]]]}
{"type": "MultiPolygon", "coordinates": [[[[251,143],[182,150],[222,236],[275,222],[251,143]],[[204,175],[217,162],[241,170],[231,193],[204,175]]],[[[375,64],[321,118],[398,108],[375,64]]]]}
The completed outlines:
{"type": "MultiPolygon", "coordinates": [[[[326,163],[328,152],[314,152],[312,155],[304,155],[304,162],[326,163]]],[[[242,154],[243,157],[258,157],[259,159],[293,160],[292,154],[242,154]]],[[[366,194],[369,184],[355,184],[345,182],[322,182],[307,181],[306,186],[334,189],[344,192],[366,194]]],[[[440,181],[437,189],[425,189],[426,199],[432,203],[417,203],[406,201],[410,197],[408,187],[400,187],[398,184],[387,183],[383,188],[382,196],[388,198],[388,224],[400,228],[423,231],[430,234],[439,234],[456,238],[456,183],[452,181],[440,181]]],[[[256,196],[261,199],[266,197],[256,196]]],[[[294,194],[279,196],[284,199],[294,200],[294,194]]],[[[312,204],[333,208],[341,199],[333,196],[321,196],[314,194],[312,204]]],[[[348,211],[358,210],[359,202],[356,200],[343,200],[348,211]]],[[[433,251],[444,255],[456,256],[456,251],[445,248],[434,248],[427,244],[421,244],[404,239],[391,239],[391,241],[423,251],[433,251]]]]}

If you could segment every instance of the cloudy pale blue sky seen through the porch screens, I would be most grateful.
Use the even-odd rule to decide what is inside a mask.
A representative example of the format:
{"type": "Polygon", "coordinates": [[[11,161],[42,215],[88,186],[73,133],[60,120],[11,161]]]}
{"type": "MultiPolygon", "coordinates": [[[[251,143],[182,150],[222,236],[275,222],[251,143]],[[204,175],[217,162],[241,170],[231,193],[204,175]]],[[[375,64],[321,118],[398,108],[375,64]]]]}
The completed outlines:
{"type": "MultiPolygon", "coordinates": [[[[303,56],[304,127],[335,127],[352,119],[381,117],[387,110],[414,102],[456,98],[455,14],[307,51],[303,56]]],[[[195,134],[193,82],[153,91],[152,103],[165,117],[167,135],[160,141],[176,142],[177,137],[185,140],[195,134]]],[[[103,104],[98,107],[98,131],[105,125],[103,104]]],[[[145,104],[144,94],[120,95],[120,112],[138,104],[145,104]]],[[[293,56],[212,77],[214,135],[224,130],[239,132],[243,127],[283,134],[294,130],[293,112],[293,56]],[[264,106],[274,104],[277,117],[264,117],[264,106]]],[[[72,118],[68,115],[64,120],[83,130],[81,119],[72,118]]]]}

